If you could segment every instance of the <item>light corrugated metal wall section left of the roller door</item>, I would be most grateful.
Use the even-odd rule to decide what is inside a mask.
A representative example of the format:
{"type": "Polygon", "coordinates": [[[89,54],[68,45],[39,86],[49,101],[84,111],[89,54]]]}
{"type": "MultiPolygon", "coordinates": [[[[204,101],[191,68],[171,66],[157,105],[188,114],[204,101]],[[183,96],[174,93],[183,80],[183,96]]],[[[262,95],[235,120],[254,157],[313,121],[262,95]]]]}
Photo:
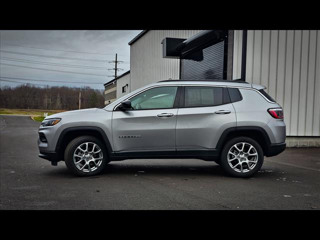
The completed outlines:
{"type": "Polygon", "coordinates": [[[201,30],[149,30],[130,47],[130,91],[169,78],[179,79],[180,60],[162,58],[164,37],[189,38],[201,30]]]}

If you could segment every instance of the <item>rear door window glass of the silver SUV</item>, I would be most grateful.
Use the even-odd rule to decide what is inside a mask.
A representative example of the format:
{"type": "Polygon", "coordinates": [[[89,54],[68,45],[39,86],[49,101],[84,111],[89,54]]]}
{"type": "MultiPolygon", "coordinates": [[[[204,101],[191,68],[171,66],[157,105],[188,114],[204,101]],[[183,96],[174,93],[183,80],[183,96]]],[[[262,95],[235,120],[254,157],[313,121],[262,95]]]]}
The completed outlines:
{"type": "Polygon", "coordinates": [[[184,107],[215,106],[223,101],[223,87],[185,86],[184,107]]]}

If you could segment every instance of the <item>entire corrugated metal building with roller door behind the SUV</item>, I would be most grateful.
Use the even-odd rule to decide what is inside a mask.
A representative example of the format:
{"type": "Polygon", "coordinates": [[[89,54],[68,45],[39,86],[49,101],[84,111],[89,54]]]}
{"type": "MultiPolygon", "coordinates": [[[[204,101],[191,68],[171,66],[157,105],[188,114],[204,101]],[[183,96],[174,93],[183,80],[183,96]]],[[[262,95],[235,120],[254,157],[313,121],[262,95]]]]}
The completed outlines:
{"type": "Polygon", "coordinates": [[[242,79],[265,85],[284,109],[287,146],[320,146],[319,33],[143,30],[128,43],[130,71],[110,82],[117,81],[116,98],[170,78],[242,79]]]}

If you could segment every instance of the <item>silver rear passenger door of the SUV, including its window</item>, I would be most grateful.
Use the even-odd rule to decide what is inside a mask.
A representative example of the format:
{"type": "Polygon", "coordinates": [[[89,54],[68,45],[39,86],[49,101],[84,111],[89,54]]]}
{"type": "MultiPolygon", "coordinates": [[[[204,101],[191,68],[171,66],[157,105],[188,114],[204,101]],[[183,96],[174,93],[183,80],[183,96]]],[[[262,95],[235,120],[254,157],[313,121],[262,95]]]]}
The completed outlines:
{"type": "Polygon", "coordinates": [[[234,107],[224,86],[185,85],[181,99],[177,151],[214,149],[222,132],[236,125],[234,107]]]}

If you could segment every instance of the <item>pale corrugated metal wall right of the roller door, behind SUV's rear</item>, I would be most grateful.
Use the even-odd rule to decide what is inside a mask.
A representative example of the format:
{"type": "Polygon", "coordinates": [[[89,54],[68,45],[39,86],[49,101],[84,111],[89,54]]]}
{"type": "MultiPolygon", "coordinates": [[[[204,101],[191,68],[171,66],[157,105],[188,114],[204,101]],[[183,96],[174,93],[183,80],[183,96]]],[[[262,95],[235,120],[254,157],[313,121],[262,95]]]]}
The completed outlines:
{"type": "MultiPolygon", "coordinates": [[[[286,134],[320,135],[320,31],[248,30],[246,81],[284,109],[286,134]]],[[[234,31],[233,76],[241,74],[242,31],[234,31]]]]}

